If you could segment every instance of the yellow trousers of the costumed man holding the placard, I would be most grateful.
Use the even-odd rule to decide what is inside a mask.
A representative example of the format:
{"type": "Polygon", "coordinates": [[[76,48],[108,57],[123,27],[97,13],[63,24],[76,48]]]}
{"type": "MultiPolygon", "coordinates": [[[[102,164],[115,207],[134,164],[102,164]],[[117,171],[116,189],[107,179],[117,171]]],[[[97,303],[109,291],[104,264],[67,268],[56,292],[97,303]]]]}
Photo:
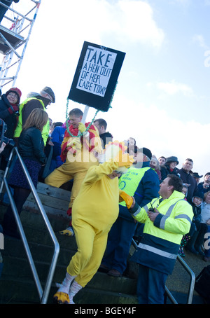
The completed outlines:
{"type": "Polygon", "coordinates": [[[45,184],[49,184],[50,186],[55,186],[57,188],[73,179],[69,207],[72,207],[73,201],[80,191],[80,186],[85,179],[87,170],[92,165],[99,165],[98,161],[96,160],[96,158],[94,158],[92,153],[87,155],[88,158],[85,161],[75,159],[71,162],[68,160],[68,158],[66,158],[66,163],[52,171],[52,173],[50,173],[48,177],[45,178],[45,184]]]}

